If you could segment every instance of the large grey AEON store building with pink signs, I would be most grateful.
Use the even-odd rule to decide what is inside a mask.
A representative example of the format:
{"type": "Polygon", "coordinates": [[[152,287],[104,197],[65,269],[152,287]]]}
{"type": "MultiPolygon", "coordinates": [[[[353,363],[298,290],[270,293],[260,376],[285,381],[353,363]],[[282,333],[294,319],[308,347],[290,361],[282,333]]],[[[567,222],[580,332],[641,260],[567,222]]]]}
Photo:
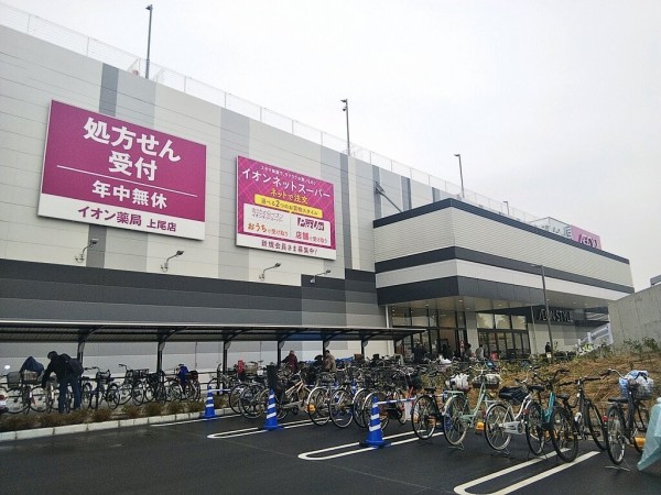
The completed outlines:
{"type": "Polygon", "coordinates": [[[0,43],[3,359],[66,341],[138,367],[158,343],[160,365],[214,367],[319,342],[408,354],[414,334],[519,356],[571,346],[633,292],[620,256],[231,96],[7,25],[0,43]]]}

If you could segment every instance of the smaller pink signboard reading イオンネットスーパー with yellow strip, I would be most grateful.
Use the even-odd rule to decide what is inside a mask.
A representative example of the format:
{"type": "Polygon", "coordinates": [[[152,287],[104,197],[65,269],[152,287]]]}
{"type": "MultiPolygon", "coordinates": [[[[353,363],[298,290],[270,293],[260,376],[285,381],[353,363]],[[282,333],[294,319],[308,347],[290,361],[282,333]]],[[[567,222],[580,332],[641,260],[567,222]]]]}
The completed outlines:
{"type": "Polygon", "coordinates": [[[237,244],[335,260],[333,184],[239,156],[237,244]]]}

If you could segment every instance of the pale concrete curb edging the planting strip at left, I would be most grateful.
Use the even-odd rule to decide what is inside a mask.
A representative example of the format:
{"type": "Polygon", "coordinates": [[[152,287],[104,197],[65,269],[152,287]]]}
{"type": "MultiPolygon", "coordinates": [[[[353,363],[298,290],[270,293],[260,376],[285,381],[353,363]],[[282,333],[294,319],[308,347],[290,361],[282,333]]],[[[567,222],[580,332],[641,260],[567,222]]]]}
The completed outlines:
{"type": "MultiPolygon", "coordinates": [[[[231,409],[215,409],[216,418],[231,413],[231,409]]],[[[0,433],[0,443],[15,440],[29,440],[32,438],[55,437],[57,435],[85,433],[93,431],[113,430],[131,428],[145,425],[159,425],[163,422],[189,421],[192,419],[206,419],[204,413],[181,413],[167,416],[148,416],[147,418],[112,419],[102,422],[83,422],[79,425],[66,425],[50,428],[33,428],[31,430],[4,431],[0,433]]]]}

